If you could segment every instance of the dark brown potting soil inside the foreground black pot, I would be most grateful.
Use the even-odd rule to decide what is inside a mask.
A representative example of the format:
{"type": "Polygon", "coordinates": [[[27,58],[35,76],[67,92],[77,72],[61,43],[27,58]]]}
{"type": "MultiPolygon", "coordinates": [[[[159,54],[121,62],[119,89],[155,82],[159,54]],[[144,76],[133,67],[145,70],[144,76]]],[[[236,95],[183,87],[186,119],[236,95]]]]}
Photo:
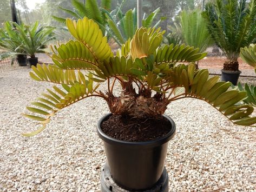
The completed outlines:
{"type": "Polygon", "coordinates": [[[130,118],[112,115],[102,122],[102,131],[117,140],[140,142],[150,141],[165,136],[172,124],[163,116],[157,118],[130,118]]]}

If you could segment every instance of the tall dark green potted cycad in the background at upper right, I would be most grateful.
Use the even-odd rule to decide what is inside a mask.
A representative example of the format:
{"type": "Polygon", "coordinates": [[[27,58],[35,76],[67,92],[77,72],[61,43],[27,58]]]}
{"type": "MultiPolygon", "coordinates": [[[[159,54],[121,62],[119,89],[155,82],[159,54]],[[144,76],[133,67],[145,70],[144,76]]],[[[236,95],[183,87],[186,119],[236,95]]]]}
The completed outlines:
{"type": "Polygon", "coordinates": [[[237,84],[240,48],[256,42],[256,1],[217,0],[207,3],[204,17],[209,34],[225,53],[227,61],[221,70],[221,80],[237,84]]]}

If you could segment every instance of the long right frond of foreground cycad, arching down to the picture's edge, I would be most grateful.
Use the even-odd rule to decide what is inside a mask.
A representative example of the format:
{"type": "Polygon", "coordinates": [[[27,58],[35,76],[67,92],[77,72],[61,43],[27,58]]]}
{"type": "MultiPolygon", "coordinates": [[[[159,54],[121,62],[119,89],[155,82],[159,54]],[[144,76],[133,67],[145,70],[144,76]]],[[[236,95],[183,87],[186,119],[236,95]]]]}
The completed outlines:
{"type": "Polygon", "coordinates": [[[211,104],[234,124],[256,123],[256,117],[250,116],[254,110],[253,107],[241,103],[247,97],[246,91],[232,89],[230,82],[219,82],[219,77],[209,78],[209,72],[206,69],[195,72],[194,64],[178,65],[173,68],[168,82],[173,87],[185,88],[182,94],[170,98],[169,101],[184,97],[198,98],[211,104]]]}

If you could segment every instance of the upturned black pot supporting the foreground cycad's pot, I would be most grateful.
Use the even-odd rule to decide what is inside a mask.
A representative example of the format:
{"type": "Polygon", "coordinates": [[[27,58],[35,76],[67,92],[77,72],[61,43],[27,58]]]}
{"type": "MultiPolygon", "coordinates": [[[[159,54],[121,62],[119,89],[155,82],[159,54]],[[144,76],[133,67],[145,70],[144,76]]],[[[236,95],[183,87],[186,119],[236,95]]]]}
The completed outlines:
{"type": "MultiPolygon", "coordinates": [[[[166,169],[163,169],[163,173],[160,177],[160,179],[156,182],[155,186],[147,189],[147,190],[143,190],[140,192],[168,192],[168,182],[169,182],[169,178],[168,178],[168,174],[166,169]]],[[[130,192],[129,190],[123,189],[119,186],[117,186],[117,184],[114,182],[113,178],[111,177],[110,171],[109,171],[109,167],[108,164],[106,163],[104,165],[104,168],[101,172],[101,192],[130,192]]]]}

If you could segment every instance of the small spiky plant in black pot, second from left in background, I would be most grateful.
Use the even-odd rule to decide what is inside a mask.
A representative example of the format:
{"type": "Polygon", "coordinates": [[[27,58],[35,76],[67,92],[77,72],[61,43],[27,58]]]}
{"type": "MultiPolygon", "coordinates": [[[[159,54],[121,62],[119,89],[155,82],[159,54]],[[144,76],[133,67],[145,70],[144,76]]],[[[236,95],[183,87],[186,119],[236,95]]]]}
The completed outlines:
{"type": "Polygon", "coordinates": [[[36,65],[38,63],[38,57],[36,53],[45,52],[43,49],[46,48],[46,44],[54,39],[54,28],[42,27],[35,22],[31,26],[21,28],[17,25],[18,35],[21,38],[21,48],[30,56],[28,63],[30,65],[36,65]]]}

